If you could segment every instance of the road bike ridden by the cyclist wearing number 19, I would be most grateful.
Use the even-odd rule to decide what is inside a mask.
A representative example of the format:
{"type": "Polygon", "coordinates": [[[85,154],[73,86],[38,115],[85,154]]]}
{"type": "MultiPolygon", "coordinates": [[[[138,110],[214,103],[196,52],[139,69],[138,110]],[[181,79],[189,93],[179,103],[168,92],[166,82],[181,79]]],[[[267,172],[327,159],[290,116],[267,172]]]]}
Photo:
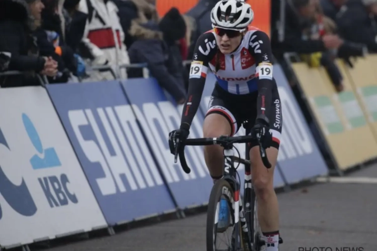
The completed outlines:
{"type": "MultiPolygon", "coordinates": [[[[184,146],[209,146],[220,145],[224,148],[223,177],[216,181],[211,190],[207,210],[207,251],[260,251],[265,244],[261,238],[259,226],[256,196],[251,182],[250,161],[240,158],[239,151],[233,146],[236,143],[249,143],[258,140],[255,136],[221,136],[219,138],[187,139],[184,142],[176,141],[174,161],[179,161],[185,173],[189,174],[191,169],[187,166],[184,156],[184,146]],[[234,155],[233,148],[238,152],[239,157],[234,155]],[[234,162],[238,162],[234,167],[234,162]],[[237,168],[240,164],[245,165],[245,183],[243,201],[240,196],[240,176],[237,168]],[[238,180],[237,180],[238,176],[238,180]],[[226,199],[229,209],[229,224],[226,230],[231,228],[231,236],[226,248],[217,247],[218,215],[220,199],[226,199]],[[242,203],[243,202],[243,203],[242,203]],[[243,208],[245,205],[245,209],[243,208]]],[[[258,140],[259,142],[259,140],[258,140]]],[[[249,149],[246,144],[246,158],[249,149]]],[[[260,156],[266,168],[271,168],[266,151],[259,142],[260,156]]],[[[224,231],[223,231],[224,232],[224,231]]],[[[279,243],[282,239],[279,238],[279,243]]]]}

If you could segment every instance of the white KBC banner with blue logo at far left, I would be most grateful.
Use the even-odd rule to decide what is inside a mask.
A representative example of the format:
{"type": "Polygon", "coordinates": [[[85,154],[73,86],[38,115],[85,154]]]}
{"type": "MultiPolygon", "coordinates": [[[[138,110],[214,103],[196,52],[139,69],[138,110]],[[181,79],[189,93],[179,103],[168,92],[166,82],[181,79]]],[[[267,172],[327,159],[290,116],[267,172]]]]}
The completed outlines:
{"type": "Polygon", "coordinates": [[[0,117],[0,245],[106,227],[46,90],[0,89],[0,117]]]}

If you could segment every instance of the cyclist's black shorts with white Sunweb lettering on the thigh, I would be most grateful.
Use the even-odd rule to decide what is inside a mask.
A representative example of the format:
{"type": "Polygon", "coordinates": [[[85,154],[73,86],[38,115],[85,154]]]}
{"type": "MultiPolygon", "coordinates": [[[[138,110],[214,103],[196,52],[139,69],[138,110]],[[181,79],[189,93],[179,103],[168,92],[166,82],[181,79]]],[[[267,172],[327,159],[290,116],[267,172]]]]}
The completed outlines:
{"type": "MultiPolygon", "coordinates": [[[[258,92],[249,94],[236,95],[227,92],[218,84],[212,92],[210,102],[208,104],[207,115],[211,113],[218,113],[223,115],[230,123],[232,129],[231,136],[235,135],[240,127],[248,131],[254,126],[257,115],[257,98],[258,92]]],[[[272,134],[272,145],[279,149],[281,129],[282,129],[282,114],[281,102],[277,88],[272,90],[271,111],[268,114],[270,133],[272,134]]],[[[258,142],[252,142],[249,147],[255,147],[258,142]]]]}

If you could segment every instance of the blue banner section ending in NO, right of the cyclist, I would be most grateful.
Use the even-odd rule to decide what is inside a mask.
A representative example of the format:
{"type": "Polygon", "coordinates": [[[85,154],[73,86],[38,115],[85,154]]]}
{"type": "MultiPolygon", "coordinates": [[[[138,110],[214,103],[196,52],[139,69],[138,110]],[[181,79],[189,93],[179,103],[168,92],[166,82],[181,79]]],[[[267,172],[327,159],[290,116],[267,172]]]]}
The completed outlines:
{"type": "Polygon", "coordinates": [[[277,161],[288,183],[327,174],[326,163],[280,65],[273,66],[273,76],[278,86],[283,117],[277,161]]]}

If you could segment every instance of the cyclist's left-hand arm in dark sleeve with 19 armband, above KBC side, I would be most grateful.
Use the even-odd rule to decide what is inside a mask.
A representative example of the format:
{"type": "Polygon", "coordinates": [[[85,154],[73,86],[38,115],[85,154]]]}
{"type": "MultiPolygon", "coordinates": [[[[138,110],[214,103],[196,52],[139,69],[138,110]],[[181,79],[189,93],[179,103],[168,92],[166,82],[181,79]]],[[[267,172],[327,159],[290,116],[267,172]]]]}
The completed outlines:
{"type": "Polygon", "coordinates": [[[180,129],[190,130],[191,123],[202,99],[204,84],[206,83],[208,63],[216,55],[217,46],[207,46],[214,43],[215,35],[205,33],[201,35],[195,45],[193,62],[190,67],[189,90],[183,106],[180,129]],[[208,49],[209,48],[209,49],[208,49]],[[205,54],[203,54],[203,53],[205,54]]]}

